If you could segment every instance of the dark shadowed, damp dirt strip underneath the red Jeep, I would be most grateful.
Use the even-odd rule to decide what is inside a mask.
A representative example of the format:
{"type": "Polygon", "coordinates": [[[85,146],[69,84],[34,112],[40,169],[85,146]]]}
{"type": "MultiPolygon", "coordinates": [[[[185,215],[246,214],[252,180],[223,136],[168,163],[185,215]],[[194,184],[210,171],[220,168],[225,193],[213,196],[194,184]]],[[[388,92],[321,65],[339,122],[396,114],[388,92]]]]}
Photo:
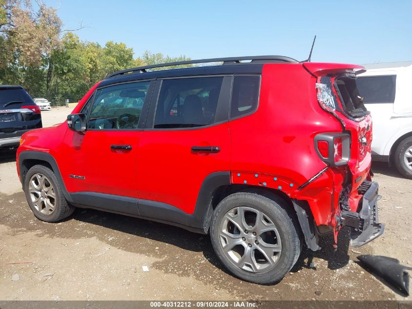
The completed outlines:
{"type": "MultiPolygon", "coordinates": [[[[344,287],[352,284],[357,278],[350,272],[353,266],[344,268],[350,261],[348,230],[339,233],[337,250],[332,246],[332,235],[324,236],[319,244],[321,250],[313,252],[303,248],[291,270],[291,275],[288,274],[279,285],[262,286],[241,281],[231,275],[217,259],[208,235],[192,233],[161,223],[81,208],[76,209],[73,215],[59,224],[43,223],[34,217],[23,192],[20,192],[13,195],[0,194],[0,225],[9,227],[9,233],[16,237],[33,232],[37,237],[76,241],[82,238],[96,238],[105,246],[154,257],[156,261],[151,267],[163,273],[182,277],[193,276],[204,284],[213,285],[216,289],[230,290],[241,298],[271,298],[279,295],[273,294],[274,292],[280,292],[285,288],[289,290],[292,287],[300,291],[295,299],[314,297],[314,290],[319,288],[322,288],[322,297],[334,299],[345,297],[348,293],[347,289],[343,288],[336,294],[335,285],[344,287]],[[327,261],[327,267],[325,263],[317,260],[317,267],[310,268],[309,265],[314,258],[327,261]],[[339,268],[343,268],[342,274],[335,272],[339,268]],[[330,283],[332,277],[341,281],[330,283]],[[322,287],[315,286],[314,283],[317,281],[322,287]],[[346,281],[349,283],[345,283],[346,281]]],[[[369,288],[375,285],[371,279],[368,280],[356,287],[356,292],[360,293],[365,286],[369,288]]],[[[352,292],[355,292],[353,288],[352,292]]]]}

